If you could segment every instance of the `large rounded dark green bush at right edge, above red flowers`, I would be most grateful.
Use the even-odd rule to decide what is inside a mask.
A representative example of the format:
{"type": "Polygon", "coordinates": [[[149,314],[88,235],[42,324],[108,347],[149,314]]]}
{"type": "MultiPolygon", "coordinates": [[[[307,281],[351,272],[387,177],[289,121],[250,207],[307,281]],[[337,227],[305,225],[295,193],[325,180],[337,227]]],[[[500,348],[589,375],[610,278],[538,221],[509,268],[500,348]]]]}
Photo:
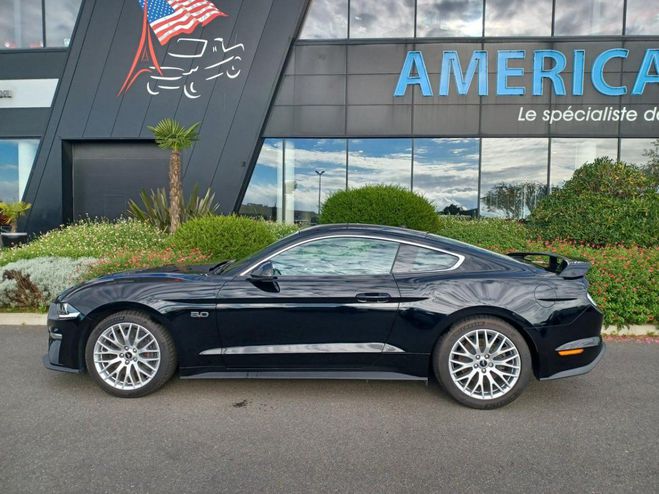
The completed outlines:
{"type": "Polygon", "coordinates": [[[548,240],[653,246],[659,243],[659,194],[635,166],[597,159],[543,198],[529,225],[548,240]]]}

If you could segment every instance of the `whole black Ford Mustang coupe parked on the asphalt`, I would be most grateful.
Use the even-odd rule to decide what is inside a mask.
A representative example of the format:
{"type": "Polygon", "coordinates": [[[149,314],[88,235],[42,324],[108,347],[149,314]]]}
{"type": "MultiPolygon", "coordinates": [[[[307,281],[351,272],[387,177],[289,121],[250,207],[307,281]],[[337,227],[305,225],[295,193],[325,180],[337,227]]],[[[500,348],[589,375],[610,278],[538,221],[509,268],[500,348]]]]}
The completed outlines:
{"type": "Polygon", "coordinates": [[[494,408],[604,353],[590,265],[368,225],[313,227],[238,262],[104,276],[48,314],[53,370],[137,397],[184,378],[426,380],[494,408]]]}

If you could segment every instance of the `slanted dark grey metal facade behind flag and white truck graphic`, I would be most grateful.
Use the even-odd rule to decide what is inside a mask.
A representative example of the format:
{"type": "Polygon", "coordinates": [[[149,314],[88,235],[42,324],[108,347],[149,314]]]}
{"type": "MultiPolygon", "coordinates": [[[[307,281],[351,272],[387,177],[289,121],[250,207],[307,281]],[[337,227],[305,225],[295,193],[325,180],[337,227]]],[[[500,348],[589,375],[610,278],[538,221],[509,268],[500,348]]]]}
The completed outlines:
{"type": "MultiPolygon", "coordinates": [[[[138,46],[142,11],[135,0],[83,1],[60,90],[27,186],[25,198],[33,203],[26,224],[29,231],[52,228],[68,219],[71,177],[63,172],[62,163],[68,143],[151,140],[147,125],[164,117],[175,117],[185,125],[201,122],[200,141],[183,154],[184,185],[188,190],[197,183],[202,188],[212,186],[222,210],[233,210],[260,148],[265,119],[308,0],[220,4],[227,17],[179,38],[206,40],[209,55],[215,54],[210,51],[215,38],[223,38],[226,47],[244,44],[240,75],[205,82],[198,98],[188,98],[182,90],[150,95],[148,74],[139,76],[129,91],[118,94],[138,46]]],[[[176,40],[161,46],[153,37],[156,58],[163,67],[176,62],[182,70],[192,69],[195,60],[174,59],[172,50],[180,48],[174,45],[176,40]]],[[[29,73],[26,64],[32,55],[16,56],[18,61],[12,63],[19,66],[16,73],[23,77],[29,73]]],[[[223,48],[215,56],[228,58],[223,48]]],[[[61,54],[55,56],[60,64],[61,58],[61,54]]],[[[61,74],[60,65],[58,77],[61,74]]]]}

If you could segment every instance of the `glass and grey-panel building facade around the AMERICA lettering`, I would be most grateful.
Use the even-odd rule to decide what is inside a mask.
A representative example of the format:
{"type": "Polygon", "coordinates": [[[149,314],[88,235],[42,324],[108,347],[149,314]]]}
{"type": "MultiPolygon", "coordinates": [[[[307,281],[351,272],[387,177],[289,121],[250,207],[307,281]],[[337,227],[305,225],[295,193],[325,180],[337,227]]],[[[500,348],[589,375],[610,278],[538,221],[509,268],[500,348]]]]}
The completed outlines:
{"type": "MultiPolygon", "coordinates": [[[[659,4],[636,0],[313,0],[240,211],[312,224],[334,191],[394,184],[423,194],[439,214],[519,219],[595,158],[643,165],[659,141],[636,138],[619,123],[552,128],[536,121],[500,130],[525,105],[540,114],[631,99],[589,87],[579,97],[524,95],[511,104],[479,96],[475,84],[443,99],[424,98],[419,87],[401,98],[392,91],[410,50],[425,55],[434,86],[445,50],[466,58],[489,49],[495,85],[496,49],[589,52],[656,36],[658,22],[659,4]]],[[[531,61],[521,68],[530,72],[531,61]]],[[[567,84],[573,70],[565,69],[567,84]]]]}

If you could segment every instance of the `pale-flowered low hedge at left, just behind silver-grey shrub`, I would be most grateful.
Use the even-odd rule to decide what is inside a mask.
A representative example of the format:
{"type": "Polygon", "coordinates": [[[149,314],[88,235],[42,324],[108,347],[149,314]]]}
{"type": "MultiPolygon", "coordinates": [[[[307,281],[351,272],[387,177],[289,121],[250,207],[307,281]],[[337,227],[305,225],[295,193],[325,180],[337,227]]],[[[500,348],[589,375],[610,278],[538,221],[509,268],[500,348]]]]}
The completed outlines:
{"type": "Polygon", "coordinates": [[[167,236],[157,228],[135,220],[85,220],[52,230],[27,245],[2,249],[0,266],[36,257],[96,257],[125,250],[158,250],[167,236]]]}

